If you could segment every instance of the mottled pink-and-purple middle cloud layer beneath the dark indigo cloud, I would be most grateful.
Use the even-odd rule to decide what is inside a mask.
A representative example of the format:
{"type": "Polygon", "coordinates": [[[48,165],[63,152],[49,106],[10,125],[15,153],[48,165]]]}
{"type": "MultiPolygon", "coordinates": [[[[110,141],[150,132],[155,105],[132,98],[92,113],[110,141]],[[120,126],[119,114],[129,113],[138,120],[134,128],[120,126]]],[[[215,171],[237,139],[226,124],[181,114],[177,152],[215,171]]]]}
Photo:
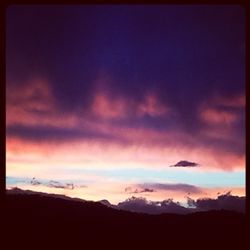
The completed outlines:
{"type": "MultiPolygon", "coordinates": [[[[150,104],[152,107],[141,108],[141,105],[149,105],[143,104],[145,100],[146,103],[148,102],[147,95],[145,100],[142,99],[138,103],[129,103],[129,100],[123,97],[121,106],[113,104],[112,99],[107,99],[109,101],[105,99],[106,106],[96,106],[94,99],[93,106],[89,110],[68,113],[54,105],[56,99],[46,87],[47,83],[38,80],[34,80],[34,86],[32,83],[29,83],[27,90],[24,91],[24,93],[28,92],[27,95],[22,94],[19,86],[12,87],[17,88],[16,92],[12,89],[15,93],[14,97],[11,94],[7,95],[7,151],[10,150],[11,141],[14,140],[15,147],[20,144],[22,151],[24,145],[29,144],[32,144],[31,151],[34,144],[41,151],[43,148],[50,147],[54,147],[52,151],[60,151],[61,145],[66,143],[78,144],[79,150],[80,145],[84,143],[88,144],[89,148],[91,145],[99,144],[103,150],[109,145],[114,152],[119,147],[127,151],[136,146],[139,150],[151,148],[152,157],[156,161],[163,161],[163,151],[176,157],[176,160],[178,155],[194,160],[190,161],[190,164],[188,164],[189,161],[177,163],[175,167],[179,165],[187,167],[195,162],[199,162],[205,168],[212,166],[230,170],[244,167],[242,164],[245,157],[245,144],[238,135],[238,133],[244,134],[242,131],[244,126],[243,124],[240,126],[240,121],[235,124],[236,127],[208,123],[191,135],[181,128],[173,109],[156,108],[157,105],[162,105],[155,104],[156,97],[149,99],[151,100],[149,102],[153,102],[150,104]],[[36,92],[36,89],[44,89],[44,93],[36,92]],[[100,107],[109,111],[104,112],[100,107]],[[122,110],[118,112],[113,107],[117,109],[122,107],[122,110]]],[[[243,107],[237,106],[239,112],[242,112],[242,109],[243,107]]],[[[171,158],[168,160],[171,161],[171,158]]],[[[166,162],[165,165],[167,166],[168,163],[166,162]]]]}

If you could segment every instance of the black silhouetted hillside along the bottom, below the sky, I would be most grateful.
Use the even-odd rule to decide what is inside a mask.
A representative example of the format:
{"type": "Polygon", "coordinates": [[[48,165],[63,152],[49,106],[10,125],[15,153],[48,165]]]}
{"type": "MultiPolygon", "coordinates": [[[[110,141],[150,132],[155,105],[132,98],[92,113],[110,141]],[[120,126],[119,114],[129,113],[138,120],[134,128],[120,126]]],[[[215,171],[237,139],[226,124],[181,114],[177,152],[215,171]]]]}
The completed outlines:
{"type": "Polygon", "coordinates": [[[246,215],[236,212],[148,215],[39,194],[5,199],[5,249],[243,249],[246,241],[246,215]]]}

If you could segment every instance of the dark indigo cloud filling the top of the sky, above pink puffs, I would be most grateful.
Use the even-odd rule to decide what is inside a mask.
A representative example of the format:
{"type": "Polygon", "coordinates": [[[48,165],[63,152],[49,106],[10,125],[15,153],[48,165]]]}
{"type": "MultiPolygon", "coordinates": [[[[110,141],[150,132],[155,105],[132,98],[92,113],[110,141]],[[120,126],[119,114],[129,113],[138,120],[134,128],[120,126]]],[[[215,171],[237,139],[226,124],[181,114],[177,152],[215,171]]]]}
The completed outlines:
{"type": "MultiPolygon", "coordinates": [[[[203,11],[211,13],[207,8],[201,10],[203,11]]],[[[110,20],[94,18],[104,14],[93,8],[86,7],[72,12],[68,9],[58,10],[53,15],[47,8],[41,7],[31,8],[25,14],[18,8],[9,10],[6,20],[7,80],[18,82],[30,77],[30,72],[48,75],[56,103],[62,110],[72,112],[80,107],[87,110],[91,108],[96,94],[96,79],[107,76],[104,80],[113,93],[110,103],[116,103],[115,99],[113,102],[113,96],[129,98],[140,103],[142,114],[152,116],[163,115],[170,106],[183,126],[195,131],[200,126],[195,114],[201,102],[214,93],[222,93],[228,99],[234,93],[241,95],[244,92],[244,51],[241,49],[245,40],[242,29],[244,15],[238,10],[227,11],[225,7],[223,21],[214,11],[211,15],[204,15],[205,18],[201,20],[201,12],[190,9],[190,12],[188,10],[184,14],[176,8],[173,16],[172,9],[168,7],[151,13],[143,7],[137,10],[125,7],[121,18],[117,16],[115,8],[110,9],[110,18],[115,18],[117,27],[133,27],[129,33],[121,34],[110,26],[110,20]],[[232,12],[236,13],[233,21],[229,14],[232,12]],[[189,18],[190,13],[192,20],[189,18]],[[50,20],[49,28],[43,24],[45,16],[50,20]],[[91,27],[95,27],[94,32],[86,26],[85,18],[91,27]],[[180,22],[179,19],[185,22],[180,22]],[[31,20],[32,25],[26,29],[31,20]],[[152,30],[153,36],[151,31],[143,28],[144,22],[157,27],[152,30]],[[214,22],[220,24],[221,30],[226,30],[225,27],[231,23],[232,30],[226,30],[221,36],[217,35],[215,29],[203,29],[203,35],[200,34],[200,25],[210,24],[214,27],[214,22]],[[181,28],[183,25],[185,29],[181,28]],[[173,33],[173,27],[179,28],[173,33]],[[37,30],[39,34],[36,33],[37,30]],[[78,34],[76,30],[81,30],[82,33],[78,34]],[[185,30],[192,32],[192,36],[187,37],[185,30]],[[45,39],[48,34],[51,41],[49,47],[45,39]],[[232,34],[236,35],[232,37],[232,34]],[[215,39],[207,44],[209,37],[215,39]],[[40,41],[40,46],[34,42],[36,39],[40,41]],[[67,47],[61,43],[62,40],[67,47]],[[126,48],[124,42],[127,44],[126,48]],[[169,45],[167,47],[166,42],[169,45]],[[115,47],[110,45],[113,43],[116,44],[115,47]],[[206,49],[204,44],[207,44],[206,49]],[[15,53],[17,47],[21,52],[15,53]],[[218,59],[216,62],[214,48],[218,59]],[[65,51],[65,54],[58,55],[58,50],[65,51]],[[37,58],[35,63],[34,58],[37,58]],[[197,71],[197,68],[200,70],[197,71]],[[157,94],[157,102],[150,95],[144,100],[152,88],[157,94]]],[[[107,116],[122,114],[120,103],[118,108],[113,108],[114,113],[109,111],[107,116]]],[[[105,108],[102,109],[104,110],[105,108]]]]}

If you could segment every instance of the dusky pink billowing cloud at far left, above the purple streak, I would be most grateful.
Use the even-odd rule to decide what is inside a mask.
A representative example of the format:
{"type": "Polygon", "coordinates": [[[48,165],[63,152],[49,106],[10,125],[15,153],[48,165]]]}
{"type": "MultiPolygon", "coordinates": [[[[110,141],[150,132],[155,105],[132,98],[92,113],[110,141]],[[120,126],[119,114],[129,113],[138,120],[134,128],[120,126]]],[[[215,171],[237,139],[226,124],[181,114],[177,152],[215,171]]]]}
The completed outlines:
{"type": "Polygon", "coordinates": [[[15,87],[9,85],[6,99],[7,126],[19,124],[72,128],[79,125],[77,115],[60,112],[50,85],[45,80],[33,79],[15,87]]]}

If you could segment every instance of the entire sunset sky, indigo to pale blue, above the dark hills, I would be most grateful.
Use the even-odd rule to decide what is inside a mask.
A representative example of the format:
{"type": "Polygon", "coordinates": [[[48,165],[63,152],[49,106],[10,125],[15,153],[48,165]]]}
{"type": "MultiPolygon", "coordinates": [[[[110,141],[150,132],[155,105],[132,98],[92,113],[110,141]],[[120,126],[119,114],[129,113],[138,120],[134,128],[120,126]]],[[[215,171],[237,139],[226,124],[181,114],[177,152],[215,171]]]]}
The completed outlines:
{"type": "Polygon", "coordinates": [[[6,12],[6,187],[117,204],[245,195],[245,10],[6,12]]]}

